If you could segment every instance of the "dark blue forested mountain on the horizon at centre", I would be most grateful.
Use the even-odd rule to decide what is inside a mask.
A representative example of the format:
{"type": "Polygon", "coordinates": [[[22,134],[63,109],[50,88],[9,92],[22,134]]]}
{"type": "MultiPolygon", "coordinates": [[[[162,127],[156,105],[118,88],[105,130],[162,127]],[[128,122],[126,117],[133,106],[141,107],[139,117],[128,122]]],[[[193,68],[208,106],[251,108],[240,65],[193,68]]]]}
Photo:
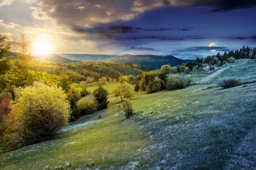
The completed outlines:
{"type": "Polygon", "coordinates": [[[115,56],[105,62],[108,63],[116,63],[116,64],[124,64],[126,62],[132,63],[140,63],[141,65],[146,65],[148,67],[159,69],[162,65],[180,65],[182,63],[186,63],[192,60],[182,60],[172,55],[167,56],[159,56],[159,55],[130,55],[125,54],[121,56],[115,56]]]}

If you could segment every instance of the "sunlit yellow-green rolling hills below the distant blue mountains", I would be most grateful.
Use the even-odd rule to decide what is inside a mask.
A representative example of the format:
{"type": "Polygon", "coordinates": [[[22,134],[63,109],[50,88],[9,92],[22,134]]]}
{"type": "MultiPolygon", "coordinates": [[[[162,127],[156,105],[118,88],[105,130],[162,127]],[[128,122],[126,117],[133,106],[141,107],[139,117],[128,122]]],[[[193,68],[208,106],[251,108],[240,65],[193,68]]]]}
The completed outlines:
{"type": "MultiPolygon", "coordinates": [[[[36,72],[47,72],[54,75],[62,74],[63,68],[60,63],[33,58],[31,64],[32,70],[36,72]]],[[[85,80],[87,76],[97,78],[109,75],[113,78],[120,75],[138,75],[142,71],[152,70],[144,65],[133,63],[119,65],[106,62],[71,62],[64,63],[63,66],[64,72],[67,73],[69,80],[72,82],[85,80]]]]}

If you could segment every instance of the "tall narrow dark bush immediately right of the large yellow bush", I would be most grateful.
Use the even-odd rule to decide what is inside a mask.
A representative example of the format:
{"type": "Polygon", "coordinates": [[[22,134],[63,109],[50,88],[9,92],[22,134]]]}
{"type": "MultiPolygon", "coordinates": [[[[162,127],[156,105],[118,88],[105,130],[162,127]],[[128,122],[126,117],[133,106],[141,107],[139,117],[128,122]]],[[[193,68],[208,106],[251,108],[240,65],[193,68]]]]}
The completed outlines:
{"type": "Polygon", "coordinates": [[[80,99],[81,95],[76,89],[69,89],[67,92],[67,100],[70,103],[70,108],[72,112],[70,113],[70,121],[77,120],[80,116],[79,109],[77,109],[77,101],[80,99]]]}

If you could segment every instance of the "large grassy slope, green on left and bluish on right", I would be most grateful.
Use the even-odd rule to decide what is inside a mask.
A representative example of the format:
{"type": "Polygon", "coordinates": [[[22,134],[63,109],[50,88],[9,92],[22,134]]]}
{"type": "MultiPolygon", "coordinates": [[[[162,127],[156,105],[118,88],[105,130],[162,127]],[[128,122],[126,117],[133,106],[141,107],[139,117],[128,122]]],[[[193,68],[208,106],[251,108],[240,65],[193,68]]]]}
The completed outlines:
{"type": "MultiPolygon", "coordinates": [[[[255,73],[255,63],[249,60],[212,81],[255,73]]],[[[52,140],[0,155],[0,169],[225,169],[256,125],[256,82],[252,80],[228,89],[210,84],[139,92],[133,97],[135,115],[130,118],[118,114],[120,100],[113,100],[107,109],[61,128],[52,140]]],[[[114,89],[113,84],[103,87],[110,93],[114,89]]],[[[252,155],[245,152],[243,156],[253,161],[252,155]]]]}

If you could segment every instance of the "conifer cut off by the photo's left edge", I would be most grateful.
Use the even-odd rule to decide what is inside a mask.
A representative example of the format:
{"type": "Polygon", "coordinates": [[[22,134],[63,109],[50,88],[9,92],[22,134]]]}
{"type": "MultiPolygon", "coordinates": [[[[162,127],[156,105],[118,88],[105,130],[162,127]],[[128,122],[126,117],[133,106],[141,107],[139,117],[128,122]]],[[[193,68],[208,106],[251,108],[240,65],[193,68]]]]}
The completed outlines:
{"type": "Polygon", "coordinates": [[[0,34],[0,75],[10,70],[10,57],[3,58],[10,50],[10,43],[4,45],[6,37],[0,34]]]}

